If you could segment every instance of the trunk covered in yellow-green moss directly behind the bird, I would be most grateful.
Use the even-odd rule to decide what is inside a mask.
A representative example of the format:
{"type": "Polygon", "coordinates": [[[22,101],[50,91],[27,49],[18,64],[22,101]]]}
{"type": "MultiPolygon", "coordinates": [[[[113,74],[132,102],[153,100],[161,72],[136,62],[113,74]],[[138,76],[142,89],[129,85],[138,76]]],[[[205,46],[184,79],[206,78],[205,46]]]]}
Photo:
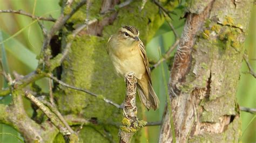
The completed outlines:
{"type": "MultiPolygon", "coordinates": [[[[119,1],[91,1],[89,19],[98,17],[100,12],[113,9],[119,1]]],[[[103,95],[121,104],[125,98],[125,82],[114,73],[109,56],[106,53],[107,39],[123,25],[133,25],[140,31],[144,43],[164,22],[160,18],[157,6],[147,2],[140,10],[141,1],[134,1],[107,18],[88,26],[73,41],[71,51],[63,62],[62,81],[75,87],[85,88],[103,95]],[[136,18],[135,18],[136,17],[136,18]]],[[[86,17],[86,6],[81,8],[70,20],[75,26],[86,17]]],[[[64,37],[68,31],[63,30],[64,37]]],[[[62,46],[65,45],[66,38],[62,46]]],[[[64,114],[73,114],[94,120],[96,125],[84,126],[79,137],[84,142],[118,142],[118,127],[122,119],[122,110],[107,104],[83,92],[61,87],[55,92],[59,110],[64,114]]],[[[139,108],[140,110],[140,108],[139,108]]],[[[58,136],[60,137],[60,135],[58,136]]],[[[62,140],[58,138],[58,140],[62,140]]],[[[138,138],[135,138],[136,140],[138,138]]]]}

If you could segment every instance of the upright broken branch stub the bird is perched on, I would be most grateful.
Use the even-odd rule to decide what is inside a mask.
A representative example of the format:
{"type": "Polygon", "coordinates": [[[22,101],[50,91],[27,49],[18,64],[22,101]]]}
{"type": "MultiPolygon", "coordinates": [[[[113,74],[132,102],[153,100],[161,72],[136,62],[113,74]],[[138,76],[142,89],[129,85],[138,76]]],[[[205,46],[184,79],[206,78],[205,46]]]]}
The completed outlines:
{"type": "Polygon", "coordinates": [[[138,120],[136,106],[136,77],[134,73],[125,75],[126,95],[123,109],[124,118],[119,129],[120,142],[130,142],[134,133],[147,124],[138,120]]]}

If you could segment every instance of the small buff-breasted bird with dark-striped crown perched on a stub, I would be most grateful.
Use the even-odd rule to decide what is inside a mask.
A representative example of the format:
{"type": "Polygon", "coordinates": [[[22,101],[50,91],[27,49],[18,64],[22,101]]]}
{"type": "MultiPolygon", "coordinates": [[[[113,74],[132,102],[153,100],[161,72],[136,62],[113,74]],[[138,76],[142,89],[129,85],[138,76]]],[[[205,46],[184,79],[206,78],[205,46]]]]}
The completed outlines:
{"type": "Polygon", "coordinates": [[[143,42],[139,39],[139,31],[132,26],[121,27],[116,34],[110,36],[107,42],[109,54],[114,69],[120,77],[134,72],[137,78],[140,101],[149,110],[156,110],[159,99],[152,87],[149,61],[143,42]]]}

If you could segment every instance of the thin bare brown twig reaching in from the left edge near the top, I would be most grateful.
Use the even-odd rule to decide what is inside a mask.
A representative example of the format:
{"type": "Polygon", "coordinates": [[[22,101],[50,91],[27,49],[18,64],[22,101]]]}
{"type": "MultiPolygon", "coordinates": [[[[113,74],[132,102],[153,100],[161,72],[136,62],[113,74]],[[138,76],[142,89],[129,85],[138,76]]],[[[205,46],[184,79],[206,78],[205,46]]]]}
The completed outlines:
{"type": "Polygon", "coordinates": [[[0,13],[16,13],[23,16],[31,17],[32,19],[39,19],[39,20],[45,20],[49,22],[55,22],[56,19],[52,17],[39,17],[39,16],[33,16],[31,13],[25,12],[23,10],[0,10],[0,13]]]}

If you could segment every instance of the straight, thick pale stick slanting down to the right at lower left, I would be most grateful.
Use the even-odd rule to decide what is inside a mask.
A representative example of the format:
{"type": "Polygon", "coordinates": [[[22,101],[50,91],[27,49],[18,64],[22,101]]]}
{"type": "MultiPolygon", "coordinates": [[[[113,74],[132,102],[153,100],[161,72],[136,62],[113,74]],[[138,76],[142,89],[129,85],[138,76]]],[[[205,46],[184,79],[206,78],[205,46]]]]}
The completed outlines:
{"type": "Polygon", "coordinates": [[[59,132],[63,135],[70,135],[71,133],[68,131],[62,122],[47,108],[42,102],[40,102],[35,96],[30,94],[28,91],[25,92],[25,96],[30,99],[31,102],[35,103],[39,109],[41,109],[45,115],[51,120],[51,123],[55,125],[59,132]]]}

